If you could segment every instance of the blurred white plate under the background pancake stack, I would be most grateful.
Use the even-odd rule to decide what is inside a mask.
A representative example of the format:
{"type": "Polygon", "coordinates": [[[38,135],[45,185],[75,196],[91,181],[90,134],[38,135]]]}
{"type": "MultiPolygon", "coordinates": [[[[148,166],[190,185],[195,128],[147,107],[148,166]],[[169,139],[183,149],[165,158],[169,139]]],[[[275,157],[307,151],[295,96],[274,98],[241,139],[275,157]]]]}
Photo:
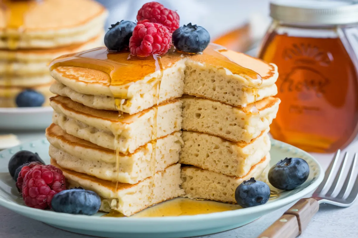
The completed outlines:
{"type": "Polygon", "coordinates": [[[50,106],[0,108],[0,130],[44,130],[52,122],[50,106]]]}

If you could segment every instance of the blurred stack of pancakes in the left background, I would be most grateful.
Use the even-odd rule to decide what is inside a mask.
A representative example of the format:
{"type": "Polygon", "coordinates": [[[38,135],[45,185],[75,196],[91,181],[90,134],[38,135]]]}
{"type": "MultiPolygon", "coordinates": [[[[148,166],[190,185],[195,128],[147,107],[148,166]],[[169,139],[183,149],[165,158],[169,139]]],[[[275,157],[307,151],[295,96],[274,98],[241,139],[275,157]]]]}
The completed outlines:
{"type": "Polygon", "coordinates": [[[103,45],[107,10],[93,0],[1,1],[0,107],[32,89],[53,96],[48,63],[63,54],[103,45]]]}

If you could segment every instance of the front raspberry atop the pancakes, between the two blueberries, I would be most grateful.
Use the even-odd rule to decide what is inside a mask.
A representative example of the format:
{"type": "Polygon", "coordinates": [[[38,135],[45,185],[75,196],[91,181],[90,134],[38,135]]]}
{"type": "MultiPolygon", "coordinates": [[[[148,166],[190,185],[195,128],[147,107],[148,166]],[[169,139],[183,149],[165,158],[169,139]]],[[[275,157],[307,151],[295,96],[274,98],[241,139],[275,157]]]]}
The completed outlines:
{"type": "Polygon", "coordinates": [[[149,55],[163,55],[171,46],[171,34],[163,25],[145,22],[135,26],[133,35],[129,39],[132,55],[146,57],[149,55]]]}

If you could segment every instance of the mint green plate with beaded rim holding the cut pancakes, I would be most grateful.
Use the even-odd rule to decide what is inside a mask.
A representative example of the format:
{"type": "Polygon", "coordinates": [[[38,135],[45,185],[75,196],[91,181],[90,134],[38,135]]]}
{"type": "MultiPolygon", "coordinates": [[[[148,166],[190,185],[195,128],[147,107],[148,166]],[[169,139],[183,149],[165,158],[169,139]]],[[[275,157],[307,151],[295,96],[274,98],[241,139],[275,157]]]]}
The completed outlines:
{"type": "Polygon", "coordinates": [[[310,175],[306,182],[295,190],[282,192],[278,198],[269,200],[266,204],[227,212],[179,217],[116,218],[101,217],[104,214],[101,212],[93,216],[72,215],[26,207],[8,172],[9,159],[19,150],[37,152],[49,163],[48,146],[47,140],[42,139],[0,152],[0,205],[53,227],[100,237],[192,237],[237,228],[313,192],[324,177],[321,166],[311,155],[292,145],[272,140],[271,166],[285,157],[300,157],[308,162],[310,175]]]}

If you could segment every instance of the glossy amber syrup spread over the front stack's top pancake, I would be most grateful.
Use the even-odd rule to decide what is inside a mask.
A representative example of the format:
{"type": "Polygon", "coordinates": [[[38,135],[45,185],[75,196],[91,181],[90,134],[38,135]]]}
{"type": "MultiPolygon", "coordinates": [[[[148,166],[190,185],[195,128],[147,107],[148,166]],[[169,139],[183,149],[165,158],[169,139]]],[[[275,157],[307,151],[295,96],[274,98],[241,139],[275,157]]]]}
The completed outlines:
{"type": "MultiPolygon", "coordinates": [[[[230,60],[226,55],[222,54],[224,51],[227,50],[219,45],[209,44],[203,54],[186,54],[186,57],[200,63],[225,68],[253,83],[262,81],[259,74],[230,60]]],[[[170,50],[168,53],[161,55],[160,61],[163,70],[183,59],[180,55],[182,53],[175,50],[170,50]]],[[[96,48],[76,54],[63,55],[50,63],[50,70],[58,66],[78,66],[103,71],[110,75],[111,79],[101,83],[108,86],[123,86],[135,83],[153,74],[158,69],[153,57],[129,57],[127,51],[110,52],[107,48],[96,48]]],[[[113,92],[113,94],[117,96],[118,92],[113,92]]],[[[118,98],[124,97],[120,96],[118,98]]]]}

